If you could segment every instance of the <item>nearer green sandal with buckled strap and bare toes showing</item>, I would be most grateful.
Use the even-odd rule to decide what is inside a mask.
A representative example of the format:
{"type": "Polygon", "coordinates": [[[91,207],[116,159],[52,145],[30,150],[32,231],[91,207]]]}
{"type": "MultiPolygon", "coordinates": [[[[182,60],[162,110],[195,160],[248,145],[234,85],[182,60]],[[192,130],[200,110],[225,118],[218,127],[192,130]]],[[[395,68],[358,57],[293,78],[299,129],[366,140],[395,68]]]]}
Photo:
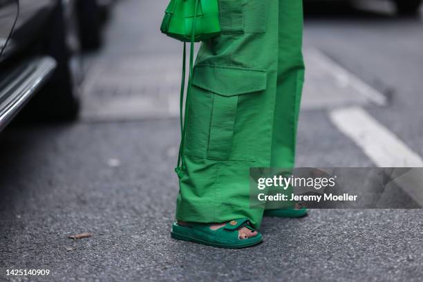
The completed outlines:
{"type": "Polygon", "coordinates": [[[181,226],[178,223],[173,223],[171,237],[182,241],[191,241],[226,249],[251,247],[263,241],[263,237],[259,232],[251,238],[239,238],[237,230],[241,227],[247,227],[254,231],[248,218],[240,218],[229,221],[224,227],[216,230],[210,229],[210,224],[207,223],[192,223],[190,226],[181,226]]]}

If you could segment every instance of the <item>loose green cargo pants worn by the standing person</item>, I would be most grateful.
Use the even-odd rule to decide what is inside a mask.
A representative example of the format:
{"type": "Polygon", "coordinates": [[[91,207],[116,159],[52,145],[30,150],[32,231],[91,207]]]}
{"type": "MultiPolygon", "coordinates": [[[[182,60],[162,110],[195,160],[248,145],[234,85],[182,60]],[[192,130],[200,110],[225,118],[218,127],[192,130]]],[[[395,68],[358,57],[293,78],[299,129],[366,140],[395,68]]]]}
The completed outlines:
{"type": "Polygon", "coordinates": [[[293,167],[304,64],[301,0],[220,0],[222,34],[194,68],[176,218],[250,218],[250,167],[293,167]]]}

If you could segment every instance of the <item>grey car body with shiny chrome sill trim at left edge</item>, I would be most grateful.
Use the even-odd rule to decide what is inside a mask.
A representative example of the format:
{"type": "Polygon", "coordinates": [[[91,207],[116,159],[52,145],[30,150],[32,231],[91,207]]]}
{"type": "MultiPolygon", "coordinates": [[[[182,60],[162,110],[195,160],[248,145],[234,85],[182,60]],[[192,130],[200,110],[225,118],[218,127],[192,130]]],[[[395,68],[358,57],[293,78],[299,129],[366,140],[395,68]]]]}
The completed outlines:
{"type": "Polygon", "coordinates": [[[53,0],[0,2],[0,129],[57,69],[53,56],[28,48],[44,30],[54,9],[53,0]]]}

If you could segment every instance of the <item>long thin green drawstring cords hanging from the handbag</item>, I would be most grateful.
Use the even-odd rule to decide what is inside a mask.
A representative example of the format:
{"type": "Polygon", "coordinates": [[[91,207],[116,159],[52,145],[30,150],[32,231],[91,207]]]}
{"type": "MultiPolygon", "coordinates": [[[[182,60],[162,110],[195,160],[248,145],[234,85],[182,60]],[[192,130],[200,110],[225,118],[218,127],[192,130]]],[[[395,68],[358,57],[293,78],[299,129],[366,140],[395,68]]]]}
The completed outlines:
{"type": "Polygon", "coordinates": [[[192,22],[192,29],[191,29],[191,46],[189,50],[189,77],[188,77],[188,86],[187,86],[187,95],[185,97],[185,112],[182,113],[182,108],[184,106],[184,90],[185,90],[185,60],[187,57],[187,46],[184,42],[184,53],[182,56],[182,82],[180,87],[180,144],[179,144],[179,151],[178,151],[178,164],[175,167],[175,172],[178,174],[178,178],[182,178],[183,171],[185,171],[185,160],[184,160],[184,144],[185,144],[185,136],[187,135],[187,120],[188,120],[188,107],[189,101],[191,100],[191,79],[193,75],[193,68],[194,68],[194,42],[196,37],[196,18],[198,12],[198,2],[196,1],[196,6],[194,8],[194,19],[192,22]],[[183,116],[182,116],[183,114],[183,116]]]}

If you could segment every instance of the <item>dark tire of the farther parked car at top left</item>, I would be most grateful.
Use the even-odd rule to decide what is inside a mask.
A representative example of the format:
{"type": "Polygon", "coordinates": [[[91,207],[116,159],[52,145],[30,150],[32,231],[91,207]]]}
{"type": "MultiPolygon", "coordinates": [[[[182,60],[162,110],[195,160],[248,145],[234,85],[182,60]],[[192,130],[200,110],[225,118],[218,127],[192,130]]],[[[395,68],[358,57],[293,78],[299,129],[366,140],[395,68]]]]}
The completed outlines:
{"type": "Polygon", "coordinates": [[[79,39],[82,49],[102,46],[102,15],[97,0],[77,0],[79,39]]]}

